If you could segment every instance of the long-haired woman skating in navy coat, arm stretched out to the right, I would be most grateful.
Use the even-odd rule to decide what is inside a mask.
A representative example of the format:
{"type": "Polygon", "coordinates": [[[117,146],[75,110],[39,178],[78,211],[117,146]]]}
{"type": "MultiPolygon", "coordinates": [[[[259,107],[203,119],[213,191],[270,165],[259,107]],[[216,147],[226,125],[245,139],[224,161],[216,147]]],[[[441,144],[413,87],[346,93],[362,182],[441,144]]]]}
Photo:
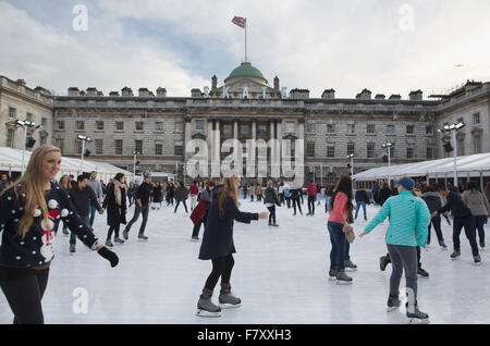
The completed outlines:
{"type": "Polygon", "coordinates": [[[252,220],[267,219],[268,212],[249,213],[238,210],[238,186],[241,177],[237,172],[225,175],[223,184],[212,190],[211,207],[208,213],[199,259],[212,260],[212,271],[208,276],[203,294],[197,302],[197,316],[220,317],[221,308],[237,308],[242,301],[231,294],[230,277],[233,269],[233,223],[250,223],[252,220]],[[221,277],[220,307],[211,302],[212,292],[221,277]]]}

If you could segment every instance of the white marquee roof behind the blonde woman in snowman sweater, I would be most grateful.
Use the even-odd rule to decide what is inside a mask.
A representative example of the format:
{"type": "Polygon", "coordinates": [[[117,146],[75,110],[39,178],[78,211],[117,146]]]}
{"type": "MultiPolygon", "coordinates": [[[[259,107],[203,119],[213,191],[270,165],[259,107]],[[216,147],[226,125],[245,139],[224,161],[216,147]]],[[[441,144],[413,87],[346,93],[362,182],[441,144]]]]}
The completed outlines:
{"type": "MultiPolygon", "coordinates": [[[[25,166],[30,158],[30,151],[25,151],[25,166]]],[[[59,180],[63,174],[72,174],[73,176],[77,176],[82,169],[82,159],[72,159],[63,157],[61,159],[61,169],[57,175],[57,180],[59,180]]],[[[21,172],[22,171],[22,150],[4,148],[0,147],[0,171],[7,172],[21,172]]],[[[133,173],[127,172],[123,169],[120,169],[115,165],[106,163],[106,162],[97,162],[97,161],[88,161],[84,160],[84,172],[96,171],[98,173],[98,178],[108,182],[111,177],[113,177],[117,173],[124,173],[128,181],[132,180],[133,173]]]]}

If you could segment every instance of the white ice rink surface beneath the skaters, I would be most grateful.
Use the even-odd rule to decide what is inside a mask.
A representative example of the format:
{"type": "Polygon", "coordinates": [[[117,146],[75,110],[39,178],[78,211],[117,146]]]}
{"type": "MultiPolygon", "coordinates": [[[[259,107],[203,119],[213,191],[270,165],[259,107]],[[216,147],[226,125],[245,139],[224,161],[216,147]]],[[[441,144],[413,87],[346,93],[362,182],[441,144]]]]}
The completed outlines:
{"type": "MultiPolygon", "coordinates": [[[[133,208],[127,220],[133,215],[133,208]]],[[[306,214],[306,199],[302,208],[306,214]]],[[[279,227],[269,227],[267,220],[250,225],[235,223],[237,254],[231,283],[243,306],[223,310],[218,319],[195,316],[211,262],[197,259],[200,242],[191,242],[193,223],[182,206],[176,213],[172,207],[150,211],[147,243],[136,238],[139,219],[131,230],[130,240],[114,246],[120,257],[120,264],[114,269],[79,240],[76,254],[70,256],[69,237],[60,230],[42,299],[45,321],[68,324],[406,323],[404,308],[385,312],[391,265],[381,272],[379,257],[387,252],[388,221],[363,239],[356,238],[351,246],[351,258],[358,270],[347,273],[354,283],[336,285],[328,280],[331,245],[324,202],[316,208],[315,217],[293,217],[293,209],[278,208],[279,227]]],[[[243,199],[241,210],[267,211],[262,202],[243,199]]],[[[379,207],[368,207],[368,220],[378,210],[379,207]]],[[[97,214],[95,222],[95,233],[102,240],[108,230],[106,218],[97,214]]],[[[365,225],[359,213],[354,224],[356,235],[365,225]]],[[[451,260],[452,227],[444,220],[442,227],[448,250],[437,245],[433,231],[430,249],[422,250],[422,267],[430,277],[418,280],[420,308],[429,314],[431,323],[490,323],[488,252],[481,250],[482,265],[475,265],[462,232],[462,256],[451,260]]],[[[199,237],[203,232],[201,228],[199,237]]],[[[402,279],[402,286],[404,283],[402,279]]],[[[212,298],[215,302],[218,294],[219,284],[212,298]]],[[[10,307],[0,294],[0,323],[12,323],[12,319],[10,307]]]]}

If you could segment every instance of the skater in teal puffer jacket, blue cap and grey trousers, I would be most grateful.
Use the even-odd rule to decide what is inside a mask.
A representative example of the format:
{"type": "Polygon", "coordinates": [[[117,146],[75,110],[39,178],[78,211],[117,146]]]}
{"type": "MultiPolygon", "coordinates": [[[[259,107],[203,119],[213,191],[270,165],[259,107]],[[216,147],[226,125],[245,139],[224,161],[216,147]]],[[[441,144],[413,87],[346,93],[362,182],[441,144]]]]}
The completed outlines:
{"type": "Polygon", "coordinates": [[[424,200],[412,194],[415,182],[411,177],[403,177],[395,181],[395,184],[399,195],[387,199],[381,210],[369,222],[359,237],[369,234],[384,219],[390,218],[385,240],[393,271],[390,277],[388,310],[391,311],[400,307],[399,288],[403,270],[405,270],[409,302],[406,316],[411,322],[428,323],[429,316],[417,308],[416,248],[417,246],[426,246],[430,213],[424,200]]]}

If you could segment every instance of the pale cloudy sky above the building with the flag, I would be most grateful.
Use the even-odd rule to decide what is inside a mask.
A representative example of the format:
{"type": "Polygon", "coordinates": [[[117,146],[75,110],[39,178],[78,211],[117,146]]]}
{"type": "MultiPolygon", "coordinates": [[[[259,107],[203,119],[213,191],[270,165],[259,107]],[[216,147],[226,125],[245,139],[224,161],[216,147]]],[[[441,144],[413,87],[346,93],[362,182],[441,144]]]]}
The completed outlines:
{"type": "Polygon", "coordinates": [[[368,88],[427,98],[490,82],[489,14],[488,0],[0,0],[0,75],[58,95],[128,86],[189,96],[244,60],[238,15],[269,85],[279,76],[310,97],[368,88]]]}

